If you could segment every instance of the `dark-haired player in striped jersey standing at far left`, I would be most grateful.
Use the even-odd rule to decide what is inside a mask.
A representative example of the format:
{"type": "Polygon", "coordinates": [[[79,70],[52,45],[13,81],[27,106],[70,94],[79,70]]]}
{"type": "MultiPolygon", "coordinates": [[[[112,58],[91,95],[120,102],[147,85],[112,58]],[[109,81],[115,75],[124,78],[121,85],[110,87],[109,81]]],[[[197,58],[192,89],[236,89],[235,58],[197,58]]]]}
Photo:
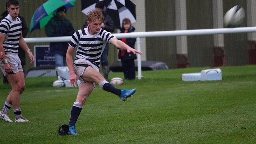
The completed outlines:
{"type": "Polygon", "coordinates": [[[20,110],[20,94],[25,90],[25,78],[18,56],[19,45],[28,53],[31,60],[30,63],[33,63],[35,58],[22,37],[22,24],[18,17],[19,10],[19,2],[17,0],[9,0],[7,3],[9,14],[0,22],[0,53],[3,54],[0,68],[12,88],[0,112],[0,119],[6,122],[13,122],[8,114],[12,106],[15,122],[29,122],[22,116],[20,110]]]}

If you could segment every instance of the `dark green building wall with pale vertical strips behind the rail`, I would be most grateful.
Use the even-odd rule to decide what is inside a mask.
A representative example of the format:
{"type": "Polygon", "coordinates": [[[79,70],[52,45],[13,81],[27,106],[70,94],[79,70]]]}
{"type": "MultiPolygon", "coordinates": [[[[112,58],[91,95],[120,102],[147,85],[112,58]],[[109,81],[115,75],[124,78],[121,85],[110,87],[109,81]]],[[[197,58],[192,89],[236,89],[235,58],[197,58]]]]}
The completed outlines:
{"type": "MultiPolygon", "coordinates": [[[[47,0],[19,0],[20,15],[28,28],[35,10],[47,0]]],[[[81,2],[67,11],[66,18],[72,22],[75,31],[83,27],[86,15],[81,12],[81,2]]],[[[232,7],[245,9],[245,21],[239,27],[256,26],[255,0],[131,0],[136,5],[136,19],[132,24],[135,32],[170,31],[223,28],[223,16],[232,7]]],[[[6,10],[7,0],[1,0],[0,13],[6,10]]],[[[119,33],[115,30],[113,33],[119,33]]],[[[28,33],[26,38],[46,37],[45,28],[28,33]]],[[[161,61],[169,68],[202,66],[239,66],[256,64],[256,34],[234,33],[219,35],[148,37],[141,38],[142,61],[161,61]]],[[[34,46],[49,43],[29,43],[34,46]]],[[[117,49],[110,45],[109,65],[118,61],[117,49]]],[[[25,72],[34,65],[29,64],[26,55],[25,72]]],[[[0,74],[2,78],[2,73],[0,74]]]]}

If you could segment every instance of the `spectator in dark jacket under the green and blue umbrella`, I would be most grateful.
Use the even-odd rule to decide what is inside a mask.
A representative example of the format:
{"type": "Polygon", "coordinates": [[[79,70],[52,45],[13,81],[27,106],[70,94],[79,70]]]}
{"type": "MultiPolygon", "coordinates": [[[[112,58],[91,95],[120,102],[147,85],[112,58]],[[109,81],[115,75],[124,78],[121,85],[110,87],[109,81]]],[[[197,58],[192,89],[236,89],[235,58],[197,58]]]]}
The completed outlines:
{"type": "MultiPolygon", "coordinates": [[[[47,37],[70,36],[74,33],[71,22],[66,17],[66,7],[59,7],[54,13],[54,17],[46,24],[45,33],[47,37]]],[[[58,66],[65,66],[66,54],[69,42],[50,42],[50,52],[54,54],[56,63],[56,74],[58,66]]],[[[57,74],[57,79],[62,79],[57,74]]]]}

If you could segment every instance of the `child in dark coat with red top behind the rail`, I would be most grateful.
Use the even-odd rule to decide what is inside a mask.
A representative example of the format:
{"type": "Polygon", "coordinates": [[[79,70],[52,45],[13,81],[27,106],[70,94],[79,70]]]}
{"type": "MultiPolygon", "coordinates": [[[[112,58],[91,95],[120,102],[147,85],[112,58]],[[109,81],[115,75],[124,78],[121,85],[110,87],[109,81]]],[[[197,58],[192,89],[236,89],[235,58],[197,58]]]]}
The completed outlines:
{"type": "MultiPolygon", "coordinates": [[[[122,20],[121,33],[132,33],[135,28],[132,26],[131,20],[129,18],[124,18],[122,20]]],[[[122,38],[122,41],[128,46],[134,48],[135,38],[122,38]]],[[[128,53],[126,50],[118,52],[118,58],[121,59],[122,70],[124,72],[124,79],[135,79],[135,63],[134,59],[137,59],[136,54],[128,53]]]]}

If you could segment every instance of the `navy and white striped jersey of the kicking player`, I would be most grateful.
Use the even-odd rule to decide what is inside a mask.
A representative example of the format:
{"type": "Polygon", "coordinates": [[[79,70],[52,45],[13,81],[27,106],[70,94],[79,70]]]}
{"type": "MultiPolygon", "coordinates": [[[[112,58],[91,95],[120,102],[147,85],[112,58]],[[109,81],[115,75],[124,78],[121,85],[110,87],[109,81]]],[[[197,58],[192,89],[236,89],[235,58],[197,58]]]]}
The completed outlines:
{"type": "Polygon", "coordinates": [[[77,48],[74,63],[80,61],[80,59],[86,59],[99,68],[100,56],[106,43],[109,43],[109,40],[113,37],[110,32],[103,29],[100,29],[100,32],[95,35],[89,34],[88,28],[76,31],[69,42],[72,48],[77,48]]]}

